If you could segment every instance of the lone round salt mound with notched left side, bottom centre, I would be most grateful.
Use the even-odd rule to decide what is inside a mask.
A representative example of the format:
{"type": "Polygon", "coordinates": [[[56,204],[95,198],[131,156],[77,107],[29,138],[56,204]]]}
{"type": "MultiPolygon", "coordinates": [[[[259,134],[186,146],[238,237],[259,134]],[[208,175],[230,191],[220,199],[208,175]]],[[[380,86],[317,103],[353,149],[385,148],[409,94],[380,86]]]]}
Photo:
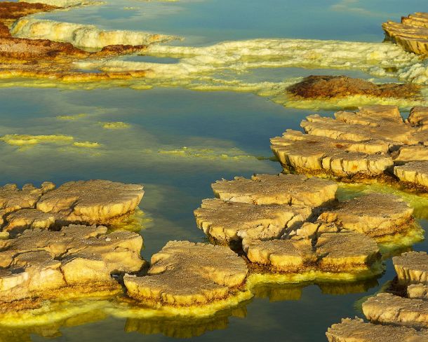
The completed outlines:
{"type": "Polygon", "coordinates": [[[125,275],[128,295],[154,307],[189,307],[226,300],[239,292],[248,269],[231,249],[170,241],[152,257],[147,275],[125,275]]]}

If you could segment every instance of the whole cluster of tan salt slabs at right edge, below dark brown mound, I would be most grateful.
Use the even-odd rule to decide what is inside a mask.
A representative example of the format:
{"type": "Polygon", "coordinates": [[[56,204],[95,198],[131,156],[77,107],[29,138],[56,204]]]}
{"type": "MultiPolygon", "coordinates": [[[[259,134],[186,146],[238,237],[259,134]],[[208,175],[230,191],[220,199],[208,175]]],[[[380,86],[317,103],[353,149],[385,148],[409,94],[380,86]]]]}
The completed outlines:
{"type": "Polygon", "coordinates": [[[271,147],[286,170],[340,179],[398,179],[426,190],[427,114],[427,107],[414,107],[403,121],[398,107],[377,105],[337,111],[335,118],[311,115],[301,123],[307,134],[287,130],[271,139],[271,147]]]}

